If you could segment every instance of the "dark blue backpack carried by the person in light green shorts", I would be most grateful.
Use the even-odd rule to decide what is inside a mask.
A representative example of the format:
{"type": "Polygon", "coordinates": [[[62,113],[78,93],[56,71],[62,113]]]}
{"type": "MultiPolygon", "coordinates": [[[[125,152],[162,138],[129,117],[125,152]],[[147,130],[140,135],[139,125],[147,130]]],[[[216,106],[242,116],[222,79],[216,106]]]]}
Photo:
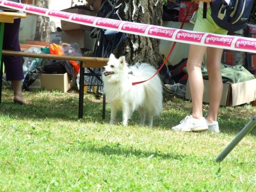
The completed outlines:
{"type": "MultiPolygon", "coordinates": [[[[245,27],[246,22],[250,18],[254,0],[212,0],[211,17],[215,23],[227,30],[238,31],[245,27]]],[[[204,18],[206,17],[206,6],[204,3],[204,18]]]]}

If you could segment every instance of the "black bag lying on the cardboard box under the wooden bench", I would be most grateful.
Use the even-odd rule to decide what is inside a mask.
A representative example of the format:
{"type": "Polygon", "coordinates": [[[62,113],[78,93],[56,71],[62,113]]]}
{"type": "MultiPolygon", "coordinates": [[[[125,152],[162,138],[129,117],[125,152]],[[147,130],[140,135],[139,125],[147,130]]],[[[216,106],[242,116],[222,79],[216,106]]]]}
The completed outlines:
{"type": "Polygon", "coordinates": [[[41,74],[69,74],[70,80],[73,76],[73,66],[67,60],[53,60],[51,59],[45,66],[39,66],[35,70],[29,72],[23,83],[22,89],[29,90],[30,85],[37,79],[41,74]],[[29,78],[30,74],[34,74],[32,78],[29,78]]]}

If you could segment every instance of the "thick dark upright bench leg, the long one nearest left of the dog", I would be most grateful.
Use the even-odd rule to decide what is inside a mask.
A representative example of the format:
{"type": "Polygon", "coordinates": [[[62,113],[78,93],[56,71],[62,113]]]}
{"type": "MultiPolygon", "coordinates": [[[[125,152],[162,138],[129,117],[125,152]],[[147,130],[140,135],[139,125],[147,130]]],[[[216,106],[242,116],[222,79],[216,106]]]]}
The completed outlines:
{"type": "Polygon", "coordinates": [[[78,101],[78,118],[83,118],[83,86],[84,86],[84,68],[80,65],[79,78],[79,101],[78,101]]]}

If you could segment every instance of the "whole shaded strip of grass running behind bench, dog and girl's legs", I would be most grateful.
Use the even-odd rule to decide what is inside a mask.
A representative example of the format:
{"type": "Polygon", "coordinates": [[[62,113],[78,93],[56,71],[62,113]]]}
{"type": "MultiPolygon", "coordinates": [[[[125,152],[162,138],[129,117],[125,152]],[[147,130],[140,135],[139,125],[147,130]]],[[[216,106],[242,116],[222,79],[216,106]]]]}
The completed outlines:
{"type": "MultiPolygon", "coordinates": [[[[78,120],[78,92],[59,93],[40,90],[37,92],[26,92],[26,97],[30,99],[28,105],[18,105],[12,102],[12,91],[3,89],[0,113],[6,116],[13,116],[17,119],[61,119],[78,120]]],[[[89,94],[84,96],[83,119],[91,122],[108,122],[110,109],[107,105],[106,120],[102,120],[102,97],[100,100],[93,99],[89,94]]],[[[164,102],[164,108],[160,117],[154,118],[153,125],[163,129],[171,129],[176,126],[188,114],[191,114],[192,105],[190,101],[171,97],[164,102]]],[[[203,105],[204,112],[208,111],[208,105],[203,105]]],[[[247,109],[246,107],[221,107],[219,113],[219,126],[221,133],[238,134],[241,129],[256,114],[256,107],[247,109]],[[255,109],[255,110],[254,110],[255,109]]],[[[138,124],[139,115],[133,114],[129,124],[138,124]]],[[[121,122],[121,115],[117,116],[117,122],[121,122]]],[[[249,134],[256,135],[256,129],[252,129],[249,134]]]]}

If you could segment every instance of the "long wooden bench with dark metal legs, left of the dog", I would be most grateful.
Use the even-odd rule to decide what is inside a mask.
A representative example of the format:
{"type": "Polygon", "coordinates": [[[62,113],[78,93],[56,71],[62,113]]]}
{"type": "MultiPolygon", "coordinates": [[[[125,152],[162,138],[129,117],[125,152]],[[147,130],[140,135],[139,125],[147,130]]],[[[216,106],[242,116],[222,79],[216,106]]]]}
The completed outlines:
{"type": "MultiPolygon", "coordinates": [[[[84,92],[82,87],[84,86],[84,69],[85,68],[102,68],[107,65],[108,58],[101,57],[73,57],[69,55],[50,55],[50,54],[37,54],[30,52],[19,52],[19,51],[9,51],[2,50],[2,55],[9,56],[19,56],[19,57],[33,57],[33,58],[42,58],[42,59],[56,59],[56,60],[72,60],[80,61],[80,78],[79,78],[79,102],[78,102],[78,118],[83,118],[83,96],[84,92]]],[[[88,75],[88,74],[87,74],[88,75]]],[[[91,74],[91,76],[99,76],[100,74],[91,74]]],[[[1,60],[0,65],[0,103],[2,96],[2,76],[3,76],[3,59],[1,60]]],[[[102,109],[102,118],[105,118],[105,105],[106,100],[105,96],[103,97],[103,109],[102,109]]]]}

